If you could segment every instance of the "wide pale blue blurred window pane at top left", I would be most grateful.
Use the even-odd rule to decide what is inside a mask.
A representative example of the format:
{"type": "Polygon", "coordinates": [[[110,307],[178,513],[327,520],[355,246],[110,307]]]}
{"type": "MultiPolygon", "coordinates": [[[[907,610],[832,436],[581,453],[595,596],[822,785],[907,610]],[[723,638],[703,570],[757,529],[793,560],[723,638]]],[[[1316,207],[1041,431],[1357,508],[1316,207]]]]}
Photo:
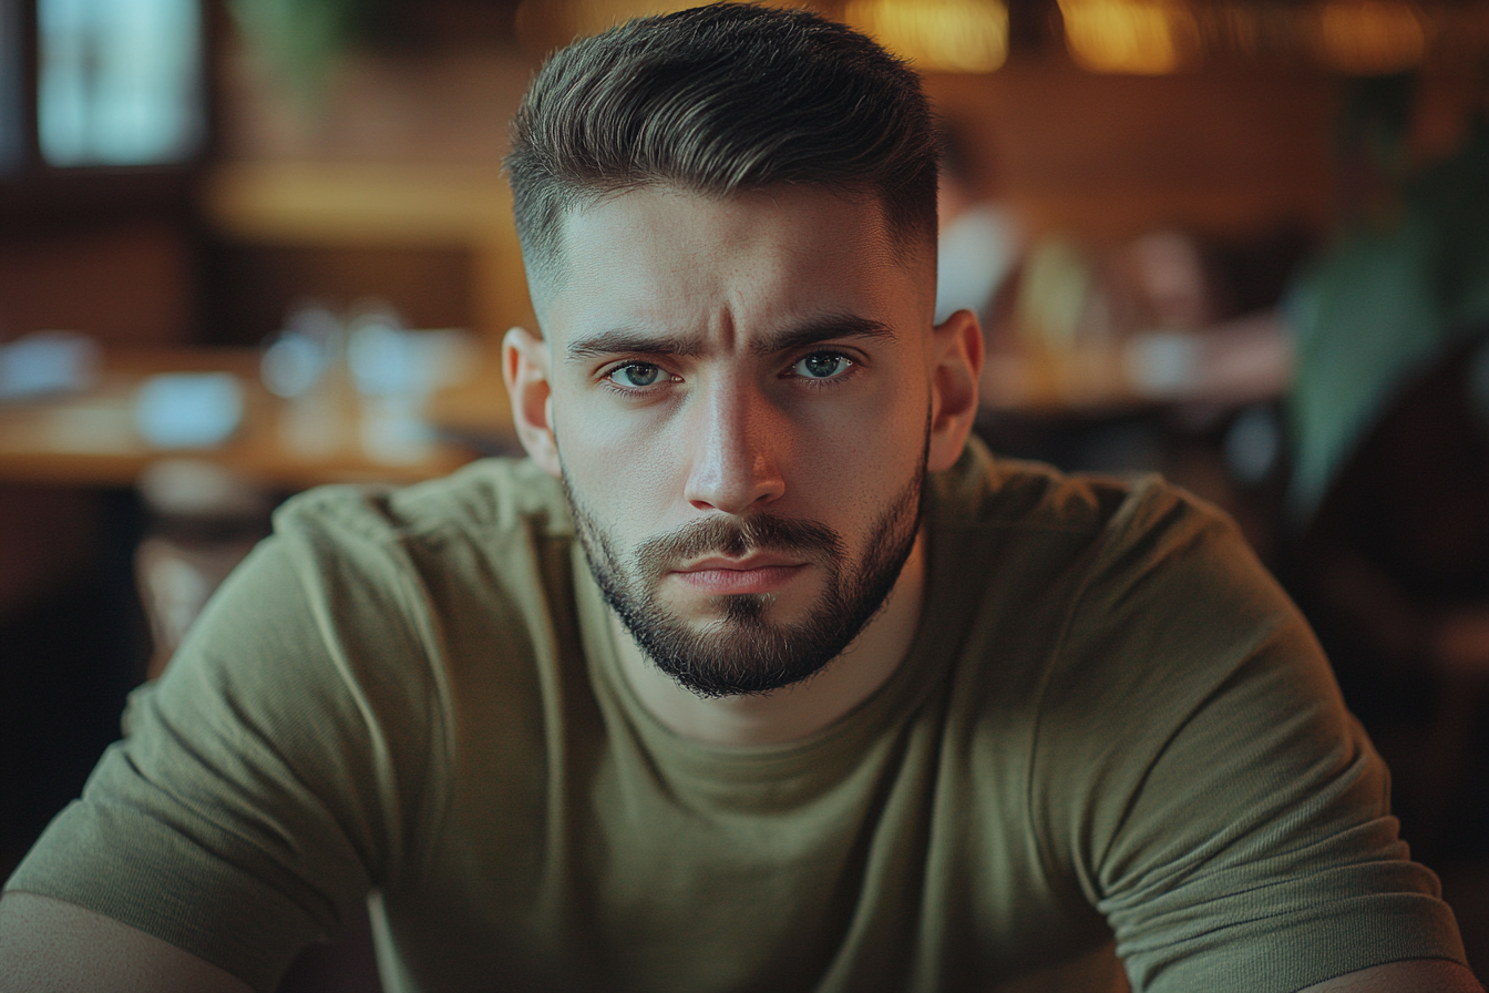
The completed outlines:
{"type": "Polygon", "coordinates": [[[197,0],[39,0],[42,156],[150,165],[201,140],[197,0]]]}

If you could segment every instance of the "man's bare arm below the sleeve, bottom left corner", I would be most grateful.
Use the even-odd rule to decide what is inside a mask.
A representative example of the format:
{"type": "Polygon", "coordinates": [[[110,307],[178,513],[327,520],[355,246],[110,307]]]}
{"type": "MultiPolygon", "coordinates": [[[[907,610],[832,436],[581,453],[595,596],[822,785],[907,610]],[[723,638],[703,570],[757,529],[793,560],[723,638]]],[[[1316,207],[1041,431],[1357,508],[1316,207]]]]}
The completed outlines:
{"type": "Polygon", "coordinates": [[[252,993],[243,980],[128,925],[51,896],[0,898],[0,993],[252,993]]]}

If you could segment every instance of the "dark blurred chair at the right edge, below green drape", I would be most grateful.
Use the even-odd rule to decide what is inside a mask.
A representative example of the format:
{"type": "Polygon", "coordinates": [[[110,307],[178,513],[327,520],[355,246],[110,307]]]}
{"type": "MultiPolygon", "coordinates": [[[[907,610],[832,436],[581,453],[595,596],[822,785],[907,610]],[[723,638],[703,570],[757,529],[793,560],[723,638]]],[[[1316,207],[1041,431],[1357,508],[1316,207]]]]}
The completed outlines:
{"type": "Polygon", "coordinates": [[[1429,856],[1483,847],[1470,779],[1489,774],[1489,326],[1382,406],[1286,576],[1392,764],[1407,840],[1429,856]]]}

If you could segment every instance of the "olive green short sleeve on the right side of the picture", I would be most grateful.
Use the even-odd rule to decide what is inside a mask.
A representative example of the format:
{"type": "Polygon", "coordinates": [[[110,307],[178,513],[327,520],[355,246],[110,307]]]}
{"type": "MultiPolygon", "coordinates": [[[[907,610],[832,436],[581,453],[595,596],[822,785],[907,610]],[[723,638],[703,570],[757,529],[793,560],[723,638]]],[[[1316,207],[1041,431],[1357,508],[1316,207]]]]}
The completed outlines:
{"type": "Polygon", "coordinates": [[[1303,618],[1228,521],[1167,488],[1130,503],[1072,610],[1032,782],[1047,858],[1077,866],[1133,989],[1462,962],[1303,618]]]}

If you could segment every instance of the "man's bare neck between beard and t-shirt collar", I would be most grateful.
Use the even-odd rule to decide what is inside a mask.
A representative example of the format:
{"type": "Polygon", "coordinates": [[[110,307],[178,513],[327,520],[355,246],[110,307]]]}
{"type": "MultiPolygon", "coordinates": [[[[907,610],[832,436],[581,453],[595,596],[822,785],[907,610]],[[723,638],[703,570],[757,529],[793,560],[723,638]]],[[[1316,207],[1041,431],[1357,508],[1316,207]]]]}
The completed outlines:
{"type": "Polygon", "coordinates": [[[820,731],[883,686],[910,651],[920,622],[926,555],[922,533],[884,607],[841,655],[800,683],[747,697],[698,697],[663,673],[610,612],[621,671],[664,727],[704,744],[782,744],[820,731]]]}

